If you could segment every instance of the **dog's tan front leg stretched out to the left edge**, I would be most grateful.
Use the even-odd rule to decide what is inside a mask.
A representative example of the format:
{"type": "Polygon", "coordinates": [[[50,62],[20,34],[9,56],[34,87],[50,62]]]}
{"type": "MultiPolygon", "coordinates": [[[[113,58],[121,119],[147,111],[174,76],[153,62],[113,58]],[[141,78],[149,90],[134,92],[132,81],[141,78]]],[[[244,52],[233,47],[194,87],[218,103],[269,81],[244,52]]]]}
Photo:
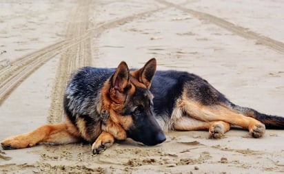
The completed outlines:
{"type": "Polygon", "coordinates": [[[34,131],[15,135],[1,142],[3,149],[21,149],[39,143],[67,144],[77,142],[77,129],[72,124],[45,124],[34,131]]]}

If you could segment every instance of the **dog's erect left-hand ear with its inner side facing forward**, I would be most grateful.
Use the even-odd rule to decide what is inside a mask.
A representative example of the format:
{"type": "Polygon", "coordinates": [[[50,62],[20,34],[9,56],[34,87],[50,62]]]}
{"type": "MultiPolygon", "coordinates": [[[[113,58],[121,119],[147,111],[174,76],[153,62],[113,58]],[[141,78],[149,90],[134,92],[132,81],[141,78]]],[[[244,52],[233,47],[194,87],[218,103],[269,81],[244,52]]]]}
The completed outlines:
{"type": "Polygon", "coordinates": [[[128,65],[122,61],[112,76],[112,87],[119,92],[123,92],[123,89],[129,84],[129,78],[130,72],[128,65]]]}

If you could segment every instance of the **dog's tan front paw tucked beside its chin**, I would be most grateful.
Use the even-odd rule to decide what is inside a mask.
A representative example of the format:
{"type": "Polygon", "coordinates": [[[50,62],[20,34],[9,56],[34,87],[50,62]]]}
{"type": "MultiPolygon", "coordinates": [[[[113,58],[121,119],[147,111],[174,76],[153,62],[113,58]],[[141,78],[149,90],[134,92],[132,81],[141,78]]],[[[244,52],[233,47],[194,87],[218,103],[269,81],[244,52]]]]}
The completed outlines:
{"type": "Polygon", "coordinates": [[[108,147],[112,146],[113,143],[114,137],[110,133],[103,131],[97,140],[92,144],[92,153],[99,154],[108,147]]]}

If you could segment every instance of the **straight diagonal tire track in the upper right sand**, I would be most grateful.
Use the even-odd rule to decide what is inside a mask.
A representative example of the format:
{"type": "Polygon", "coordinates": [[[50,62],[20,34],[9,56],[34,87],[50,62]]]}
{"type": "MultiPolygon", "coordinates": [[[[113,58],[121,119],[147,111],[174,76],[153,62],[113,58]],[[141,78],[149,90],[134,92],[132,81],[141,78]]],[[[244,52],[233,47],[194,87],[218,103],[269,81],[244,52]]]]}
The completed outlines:
{"type": "Polygon", "coordinates": [[[265,45],[267,47],[272,48],[273,50],[276,50],[278,52],[281,52],[284,54],[284,43],[280,41],[276,41],[274,39],[271,39],[267,36],[262,36],[261,34],[258,34],[256,32],[252,32],[248,30],[247,28],[243,28],[239,25],[235,25],[234,23],[230,23],[228,21],[225,21],[224,19],[221,19],[219,17],[215,17],[211,14],[207,14],[205,12],[199,12],[196,10],[192,10],[190,8],[185,8],[183,6],[180,6],[175,3],[170,3],[168,1],[164,0],[156,0],[159,3],[164,4],[165,6],[172,7],[179,9],[183,12],[187,12],[189,14],[192,14],[193,17],[196,17],[197,19],[201,21],[207,21],[210,23],[214,23],[215,25],[220,26],[221,28],[225,28],[226,30],[233,32],[234,34],[237,34],[245,39],[252,39],[255,40],[256,43],[265,45]]]}

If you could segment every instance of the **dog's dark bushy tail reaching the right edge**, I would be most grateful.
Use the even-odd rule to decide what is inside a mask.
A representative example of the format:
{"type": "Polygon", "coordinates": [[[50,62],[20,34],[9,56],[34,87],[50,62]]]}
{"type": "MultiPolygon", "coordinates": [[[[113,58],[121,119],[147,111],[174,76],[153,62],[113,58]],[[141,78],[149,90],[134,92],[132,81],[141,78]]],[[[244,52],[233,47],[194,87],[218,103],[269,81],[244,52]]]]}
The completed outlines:
{"type": "Polygon", "coordinates": [[[284,129],[284,117],[267,115],[265,113],[260,113],[254,109],[240,107],[232,103],[230,103],[230,105],[235,111],[262,122],[263,124],[265,124],[266,129],[284,129]]]}

